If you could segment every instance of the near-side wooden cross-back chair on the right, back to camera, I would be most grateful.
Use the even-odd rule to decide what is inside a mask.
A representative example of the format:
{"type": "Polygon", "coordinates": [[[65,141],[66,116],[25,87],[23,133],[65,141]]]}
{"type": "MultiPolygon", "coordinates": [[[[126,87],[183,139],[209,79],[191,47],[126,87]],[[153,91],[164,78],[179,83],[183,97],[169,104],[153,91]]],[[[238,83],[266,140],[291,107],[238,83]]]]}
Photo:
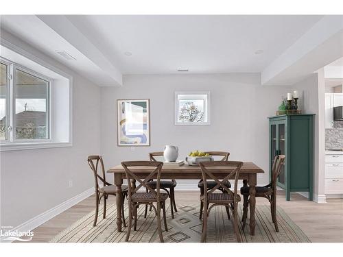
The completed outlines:
{"type": "Polygon", "coordinates": [[[204,206],[204,221],[202,223],[202,237],[201,241],[206,241],[207,232],[207,219],[209,218],[209,213],[214,206],[225,206],[230,208],[233,212],[233,229],[235,231],[237,242],[241,242],[241,234],[238,228],[238,202],[241,201],[241,197],[237,195],[237,186],[239,171],[241,171],[241,166],[243,162],[232,162],[232,161],[213,161],[213,162],[200,162],[202,181],[204,182],[204,188],[207,188],[207,182],[209,179],[215,181],[215,186],[211,189],[204,190],[204,193],[200,195],[200,201],[202,201],[204,206]],[[220,180],[211,172],[211,167],[224,167],[225,178],[220,180]],[[234,190],[231,191],[230,188],[226,186],[228,180],[235,180],[234,190]],[[222,188],[226,193],[215,193],[218,188],[222,188]],[[210,206],[211,205],[211,206],[210,206]]]}

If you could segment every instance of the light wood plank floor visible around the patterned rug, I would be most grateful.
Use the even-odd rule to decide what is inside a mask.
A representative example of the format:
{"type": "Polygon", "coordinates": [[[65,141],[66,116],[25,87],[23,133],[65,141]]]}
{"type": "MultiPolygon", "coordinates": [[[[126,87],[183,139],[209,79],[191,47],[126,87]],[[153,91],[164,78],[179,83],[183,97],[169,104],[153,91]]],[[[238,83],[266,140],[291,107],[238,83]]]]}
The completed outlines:
{"type": "MultiPolygon", "coordinates": [[[[316,204],[297,193],[292,193],[292,201],[285,201],[283,191],[278,194],[278,206],[285,210],[312,242],[343,242],[343,199],[329,199],[327,204],[316,204]]],[[[198,204],[199,192],[177,191],[176,203],[180,199],[182,204],[198,204]]],[[[114,203],[115,198],[110,197],[109,201],[114,203]]],[[[268,204],[268,201],[259,198],[257,204],[268,204]]],[[[93,195],[36,228],[31,242],[49,242],[94,208],[93,195]]]]}

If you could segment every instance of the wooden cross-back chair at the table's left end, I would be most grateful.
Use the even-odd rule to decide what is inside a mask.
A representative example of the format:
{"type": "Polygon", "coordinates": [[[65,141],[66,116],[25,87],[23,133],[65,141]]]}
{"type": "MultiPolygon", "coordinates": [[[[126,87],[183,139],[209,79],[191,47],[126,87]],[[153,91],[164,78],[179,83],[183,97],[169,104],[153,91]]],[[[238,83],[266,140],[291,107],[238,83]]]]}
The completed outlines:
{"type": "MultiPolygon", "coordinates": [[[[95,218],[93,226],[97,225],[97,216],[99,215],[99,204],[102,197],[104,197],[104,213],[102,215],[103,219],[106,218],[106,201],[108,195],[117,195],[116,194],[116,186],[106,182],[106,175],[105,175],[105,167],[104,161],[102,160],[102,156],[88,156],[87,162],[91,170],[93,171],[94,179],[95,179],[95,218]],[[99,171],[99,164],[100,169],[99,171]],[[101,172],[101,173],[100,173],[101,172]],[[100,173],[100,174],[99,174],[100,173]],[[99,186],[99,180],[103,183],[103,186],[99,186]]],[[[128,195],[128,186],[123,185],[121,186],[121,216],[123,219],[123,225],[126,227],[125,223],[125,215],[124,215],[124,200],[125,197],[128,195]]]]}

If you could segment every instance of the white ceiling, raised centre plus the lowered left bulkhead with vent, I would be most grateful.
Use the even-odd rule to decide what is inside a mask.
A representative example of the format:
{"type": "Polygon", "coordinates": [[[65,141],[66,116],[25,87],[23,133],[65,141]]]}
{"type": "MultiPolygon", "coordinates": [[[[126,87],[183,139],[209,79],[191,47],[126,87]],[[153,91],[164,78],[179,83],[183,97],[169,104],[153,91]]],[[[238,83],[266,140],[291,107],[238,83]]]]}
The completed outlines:
{"type": "Polygon", "coordinates": [[[1,16],[1,29],[108,86],[121,84],[114,73],[261,73],[322,17],[1,16]]]}

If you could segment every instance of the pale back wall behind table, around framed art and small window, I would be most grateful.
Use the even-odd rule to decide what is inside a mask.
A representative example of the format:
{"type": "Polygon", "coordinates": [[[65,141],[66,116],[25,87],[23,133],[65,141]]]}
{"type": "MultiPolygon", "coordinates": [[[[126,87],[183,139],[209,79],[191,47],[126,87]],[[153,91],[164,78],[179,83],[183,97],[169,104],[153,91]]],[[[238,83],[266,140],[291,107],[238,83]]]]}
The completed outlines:
{"type": "MultiPolygon", "coordinates": [[[[264,169],[258,183],[267,183],[267,117],[275,114],[281,95],[288,91],[287,86],[261,86],[256,73],[126,75],[122,87],[102,88],[101,149],[106,167],[123,160],[147,160],[148,152],[177,145],[179,159],[195,149],[230,151],[230,160],[252,161],[264,169]],[[211,125],[174,125],[174,92],[182,90],[211,90],[211,125]],[[136,98],[150,98],[151,146],[117,147],[116,100],[136,98]]],[[[189,183],[196,186],[178,181],[178,189],[189,183]]]]}

